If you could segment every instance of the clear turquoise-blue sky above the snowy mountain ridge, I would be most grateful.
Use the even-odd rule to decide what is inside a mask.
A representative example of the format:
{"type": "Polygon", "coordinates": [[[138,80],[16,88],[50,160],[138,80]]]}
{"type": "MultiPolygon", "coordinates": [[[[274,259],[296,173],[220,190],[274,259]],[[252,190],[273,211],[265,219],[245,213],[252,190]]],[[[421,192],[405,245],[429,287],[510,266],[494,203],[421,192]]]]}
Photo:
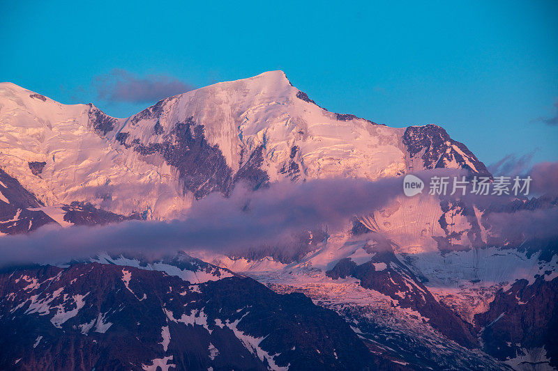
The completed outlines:
{"type": "MultiPolygon", "coordinates": [[[[283,70],[330,111],[437,123],[487,164],[558,160],[558,1],[1,1],[0,81],[112,116],[114,68],[193,86],[283,70]]],[[[0,124],[1,125],[1,124],[0,124]]]]}

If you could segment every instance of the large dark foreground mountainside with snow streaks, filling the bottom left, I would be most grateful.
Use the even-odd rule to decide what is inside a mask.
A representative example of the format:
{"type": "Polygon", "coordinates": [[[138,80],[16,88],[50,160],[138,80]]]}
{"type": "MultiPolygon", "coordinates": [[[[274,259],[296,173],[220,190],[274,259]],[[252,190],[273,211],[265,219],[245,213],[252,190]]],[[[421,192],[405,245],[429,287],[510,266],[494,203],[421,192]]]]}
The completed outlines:
{"type": "Polygon", "coordinates": [[[0,298],[4,370],[405,370],[333,311],[241,276],[46,266],[3,271],[0,298]]]}

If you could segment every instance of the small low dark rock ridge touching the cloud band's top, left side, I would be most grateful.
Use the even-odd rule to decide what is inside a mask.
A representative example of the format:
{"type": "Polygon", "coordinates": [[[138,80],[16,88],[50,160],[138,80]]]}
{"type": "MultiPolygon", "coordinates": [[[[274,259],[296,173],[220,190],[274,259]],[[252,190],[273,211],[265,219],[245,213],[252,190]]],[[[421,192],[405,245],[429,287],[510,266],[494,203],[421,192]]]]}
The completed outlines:
{"type": "Polygon", "coordinates": [[[74,201],[70,205],[63,206],[62,210],[66,212],[66,214],[64,214],[64,220],[76,226],[103,226],[108,223],[141,219],[139,214],[123,216],[97,209],[90,203],[80,203],[77,201],[74,201]]]}

